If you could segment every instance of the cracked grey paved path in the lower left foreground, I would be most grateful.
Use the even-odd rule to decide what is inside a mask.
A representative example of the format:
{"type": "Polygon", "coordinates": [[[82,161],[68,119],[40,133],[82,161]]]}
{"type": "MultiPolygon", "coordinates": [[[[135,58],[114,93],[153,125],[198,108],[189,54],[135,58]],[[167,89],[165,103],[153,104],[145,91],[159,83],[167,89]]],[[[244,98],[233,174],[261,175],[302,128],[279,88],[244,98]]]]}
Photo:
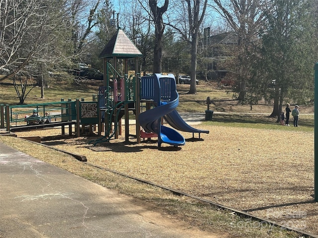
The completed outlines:
{"type": "Polygon", "coordinates": [[[0,143],[0,238],[216,238],[0,143]]]}

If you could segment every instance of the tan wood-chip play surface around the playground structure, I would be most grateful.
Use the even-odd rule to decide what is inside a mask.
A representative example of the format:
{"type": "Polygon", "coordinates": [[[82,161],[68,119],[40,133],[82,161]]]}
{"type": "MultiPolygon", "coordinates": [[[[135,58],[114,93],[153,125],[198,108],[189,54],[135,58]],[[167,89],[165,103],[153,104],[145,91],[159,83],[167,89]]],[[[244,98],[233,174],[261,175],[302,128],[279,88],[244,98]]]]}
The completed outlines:
{"type": "Polygon", "coordinates": [[[59,137],[60,129],[16,134],[41,136],[42,143],[85,155],[89,163],[318,235],[314,132],[195,127],[210,134],[193,140],[181,132],[181,149],[162,144],[161,150],[156,141],[126,144],[123,136],[93,147],[88,142],[97,137],[59,137]]]}

